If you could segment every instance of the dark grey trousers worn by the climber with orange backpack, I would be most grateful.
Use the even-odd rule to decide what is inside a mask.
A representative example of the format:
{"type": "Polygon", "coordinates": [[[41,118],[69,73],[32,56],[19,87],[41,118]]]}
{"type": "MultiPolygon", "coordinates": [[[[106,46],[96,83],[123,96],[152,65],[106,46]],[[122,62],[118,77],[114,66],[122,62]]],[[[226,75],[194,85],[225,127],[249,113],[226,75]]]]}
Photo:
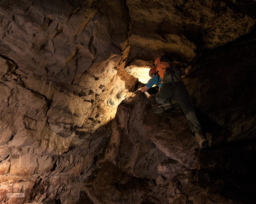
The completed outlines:
{"type": "Polygon", "coordinates": [[[167,99],[172,98],[176,101],[188,119],[188,125],[194,134],[195,131],[202,132],[200,123],[196,118],[196,112],[190,102],[188,91],[183,82],[163,83],[159,92],[156,94],[156,102],[162,104],[167,99]]]}

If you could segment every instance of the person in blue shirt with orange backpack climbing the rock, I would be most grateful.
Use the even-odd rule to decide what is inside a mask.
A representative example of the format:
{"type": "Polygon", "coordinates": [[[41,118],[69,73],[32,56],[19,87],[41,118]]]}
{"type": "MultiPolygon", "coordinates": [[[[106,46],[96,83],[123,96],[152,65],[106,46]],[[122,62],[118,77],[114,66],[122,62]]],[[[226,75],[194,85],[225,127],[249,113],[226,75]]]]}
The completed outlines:
{"type": "Polygon", "coordinates": [[[188,125],[195,137],[199,147],[205,148],[208,146],[208,141],[202,133],[200,123],[196,117],[194,107],[190,102],[185,84],[181,79],[180,69],[175,67],[171,56],[161,56],[156,58],[155,66],[149,70],[151,79],[148,83],[137,91],[145,92],[154,84],[159,86],[159,91],[156,93],[155,100],[160,106],[168,106],[170,99],[176,101],[188,120],[188,125]]]}

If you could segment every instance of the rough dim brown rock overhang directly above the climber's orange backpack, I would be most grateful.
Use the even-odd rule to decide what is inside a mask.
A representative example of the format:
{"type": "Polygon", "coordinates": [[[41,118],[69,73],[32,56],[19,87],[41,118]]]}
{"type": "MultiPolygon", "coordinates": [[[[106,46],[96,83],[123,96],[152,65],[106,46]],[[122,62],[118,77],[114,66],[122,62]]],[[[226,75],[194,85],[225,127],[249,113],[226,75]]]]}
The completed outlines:
{"type": "Polygon", "coordinates": [[[254,1],[128,0],[127,5],[132,20],[131,59],[152,60],[172,53],[183,62],[191,61],[197,50],[233,41],[255,23],[250,9],[254,1]],[[238,10],[241,7],[247,12],[238,10]]]}

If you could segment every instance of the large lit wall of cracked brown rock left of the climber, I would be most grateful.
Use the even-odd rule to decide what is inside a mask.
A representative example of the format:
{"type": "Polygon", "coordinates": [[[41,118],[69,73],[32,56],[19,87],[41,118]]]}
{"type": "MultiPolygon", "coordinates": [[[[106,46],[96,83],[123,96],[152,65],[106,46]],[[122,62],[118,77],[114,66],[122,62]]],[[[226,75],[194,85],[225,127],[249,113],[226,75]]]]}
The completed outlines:
{"type": "Polygon", "coordinates": [[[72,203],[137,81],[123,69],[127,15],[95,1],[0,5],[0,200],[72,203]],[[25,196],[7,196],[14,184],[25,196]]]}

